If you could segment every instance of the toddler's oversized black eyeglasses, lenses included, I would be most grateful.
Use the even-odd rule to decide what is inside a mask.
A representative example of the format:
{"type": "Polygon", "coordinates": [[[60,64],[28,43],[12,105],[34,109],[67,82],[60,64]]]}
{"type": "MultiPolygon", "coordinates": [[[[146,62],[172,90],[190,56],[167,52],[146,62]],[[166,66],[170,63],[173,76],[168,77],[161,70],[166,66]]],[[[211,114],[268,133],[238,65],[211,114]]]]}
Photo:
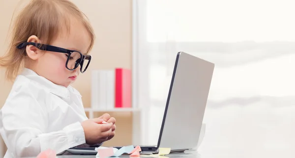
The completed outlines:
{"type": "Polygon", "coordinates": [[[81,73],[84,73],[91,61],[90,55],[83,55],[79,51],[68,50],[68,49],[64,49],[64,48],[60,48],[60,47],[56,47],[56,46],[52,46],[52,45],[47,45],[47,44],[40,44],[40,43],[34,43],[34,42],[24,42],[24,43],[17,45],[16,47],[18,49],[21,49],[27,45],[33,45],[43,51],[65,53],[67,56],[65,67],[68,70],[74,70],[80,64],[81,65],[80,71],[81,71],[81,73]],[[85,64],[85,61],[88,63],[85,64]],[[85,67],[84,67],[84,65],[85,65],[85,67]]]}

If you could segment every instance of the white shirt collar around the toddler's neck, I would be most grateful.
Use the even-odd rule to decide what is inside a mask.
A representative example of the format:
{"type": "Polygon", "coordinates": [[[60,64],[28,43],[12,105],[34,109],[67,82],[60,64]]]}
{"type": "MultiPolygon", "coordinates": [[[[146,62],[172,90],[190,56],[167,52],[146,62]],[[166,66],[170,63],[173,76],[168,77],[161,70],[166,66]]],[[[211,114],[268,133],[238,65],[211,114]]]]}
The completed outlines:
{"type": "Polygon", "coordinates": [[[49,92],[51,92],[54,95],[58,95],[63,98],[67,98],[70,95],[68,88],[57,85],[49,81],[45,77],[39,76],[36,72],[34,72],[33,70],[29,68],[24,68],[21,75],[25,76],[26,78],[28,78],[29,80],[32,80],[33,82],[37,84],[40,84],[40,87],[47,89],[49,92]]]}

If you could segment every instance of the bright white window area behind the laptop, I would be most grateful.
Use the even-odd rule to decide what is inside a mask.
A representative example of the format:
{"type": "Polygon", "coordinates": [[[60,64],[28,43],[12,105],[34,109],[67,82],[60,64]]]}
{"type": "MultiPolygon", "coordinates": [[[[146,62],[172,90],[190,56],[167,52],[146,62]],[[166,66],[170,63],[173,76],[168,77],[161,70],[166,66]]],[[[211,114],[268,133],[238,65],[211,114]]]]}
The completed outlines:
{"type": "Polygon", "coordinates": [[[295,147],[294,4],[139,0],[138,104],[148,109],[143,143],[157,143],[176,54],[184,51],[215,63],[201,153],[290,156],[295,147]]]}

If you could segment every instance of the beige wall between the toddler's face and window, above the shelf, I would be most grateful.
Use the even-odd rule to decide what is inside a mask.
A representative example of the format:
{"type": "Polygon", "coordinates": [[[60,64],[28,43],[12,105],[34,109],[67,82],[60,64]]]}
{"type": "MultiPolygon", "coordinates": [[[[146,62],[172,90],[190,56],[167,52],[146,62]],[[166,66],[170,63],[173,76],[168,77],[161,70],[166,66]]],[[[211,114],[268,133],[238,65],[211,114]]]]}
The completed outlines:
{"type": "MultiPolygon", "coordinates": [[[[89,69],[131,68],[131,0],[72,1],[88,16],[96,34],[89,69]]],[[[74,84],[85,107],[90,106],[90,75],[80,75],[74,84]]]]}

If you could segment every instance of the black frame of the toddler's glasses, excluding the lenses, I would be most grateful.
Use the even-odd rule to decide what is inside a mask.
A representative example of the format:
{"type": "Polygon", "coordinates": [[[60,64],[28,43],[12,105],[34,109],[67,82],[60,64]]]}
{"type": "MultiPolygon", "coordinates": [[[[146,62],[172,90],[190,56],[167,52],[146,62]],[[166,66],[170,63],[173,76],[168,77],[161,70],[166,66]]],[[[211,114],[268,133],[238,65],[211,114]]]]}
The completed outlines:
{"type": "MultiPolygon", "coordinates": [[[[68,57],[67,57],[67,60],[66,60],[66,63],[65,63],[65,67],[68,69],[68,70],[75,70],[79,65],[80,65],[80,71],[81,73],[84,73],[86,71],[86,69],[88,68],[89,66],[89,63],[91,61],[91,56],[90,55],[83,55],[81,52],[79,51],[75,51],[75,50],[69,50],[69,49],[65,49],[65,48],[60,48],[60,47],[56,47],[56,46],[52,46],[52,45],[48,45],[48,44],[41,44],[41,43],[35,43],[35,42],[23,42],[23,43],[20,43],[18,44],[16,47],[18,49],[21,49],[21,48],[24,48],[25,46],[27,45],[33,45],[35,47],[37,47],[38,49],[40,50],[43,50],[43,51],[50,51],[50,52],[58,52],[58,53],[65,53],[65,54],[68,54],[68,57]],[[73,52],[78,52],[80,54],[80,62],[74,66],[74,68],[70,69],[68,68],[67,64],[69,62],[69,59],[71,57],[71,54],[73,52]],[[83,67],[83,64],[84,64],[84,61],[86,60],[89,60],[89,62],[87,63],[84,71],[82,71],[82,67],[83,67]]],[[[78,59],[78,60],[79,60],[78,59]]],[[[78,61],[77,60],[77,61],[78,61]]]]}

